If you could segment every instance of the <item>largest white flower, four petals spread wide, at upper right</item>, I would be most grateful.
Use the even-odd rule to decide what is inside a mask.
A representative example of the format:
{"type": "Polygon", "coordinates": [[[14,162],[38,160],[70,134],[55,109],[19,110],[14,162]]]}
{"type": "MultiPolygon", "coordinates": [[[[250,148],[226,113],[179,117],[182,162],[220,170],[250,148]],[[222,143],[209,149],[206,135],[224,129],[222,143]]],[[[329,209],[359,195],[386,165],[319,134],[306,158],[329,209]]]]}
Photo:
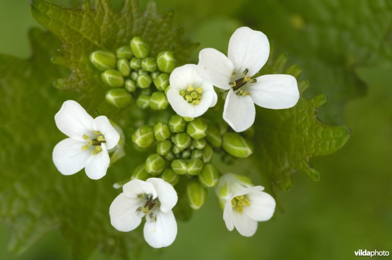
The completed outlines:
{"type": "Polygon", "coordinates": [[[223,119],[237,132],[252,126],[256,115],[254,104],[284,109],[293,107],[299,99],[297,82],[291,75],[251,78],[264,66],[269,55],[267,36],[248,27],[240,27],[233,33],[228,57],[213,48],[202,49],[199,53],[197,72],[201,78],[229,90],[223,119]]]}

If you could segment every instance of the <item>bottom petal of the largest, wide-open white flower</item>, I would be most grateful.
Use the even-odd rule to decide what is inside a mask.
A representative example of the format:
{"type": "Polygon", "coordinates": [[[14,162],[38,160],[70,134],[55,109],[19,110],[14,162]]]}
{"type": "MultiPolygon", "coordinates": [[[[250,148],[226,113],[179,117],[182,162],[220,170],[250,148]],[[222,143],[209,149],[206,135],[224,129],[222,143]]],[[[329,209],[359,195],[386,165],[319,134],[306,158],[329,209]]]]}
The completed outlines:
{"type": "Polygon", "coordinates": [[[226,97],[223,119],[236,132],[242,132],[252,126],[256,110],[249,95],[236,95],[231,89],[226,97]]]}

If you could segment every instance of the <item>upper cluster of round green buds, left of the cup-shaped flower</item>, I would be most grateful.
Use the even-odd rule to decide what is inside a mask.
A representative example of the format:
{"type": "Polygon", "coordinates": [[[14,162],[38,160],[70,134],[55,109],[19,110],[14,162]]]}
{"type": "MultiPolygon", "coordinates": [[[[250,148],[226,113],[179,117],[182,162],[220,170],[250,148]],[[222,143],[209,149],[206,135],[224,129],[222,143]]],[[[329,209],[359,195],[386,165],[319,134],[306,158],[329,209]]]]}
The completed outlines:
{"type": "Polygon", "coordinates": [[[127,107],[136,99],[140,109],[163,110],[169,106],[165,91],[170,73],[177,66],[172,51],[161,51],[151,57],[150,47],[134,37],[129,45],[116,53],[98,50],[90,54],[90,61],[102,71],[102,82],[110,88],[106,101],[118,108],[127,107]]]}

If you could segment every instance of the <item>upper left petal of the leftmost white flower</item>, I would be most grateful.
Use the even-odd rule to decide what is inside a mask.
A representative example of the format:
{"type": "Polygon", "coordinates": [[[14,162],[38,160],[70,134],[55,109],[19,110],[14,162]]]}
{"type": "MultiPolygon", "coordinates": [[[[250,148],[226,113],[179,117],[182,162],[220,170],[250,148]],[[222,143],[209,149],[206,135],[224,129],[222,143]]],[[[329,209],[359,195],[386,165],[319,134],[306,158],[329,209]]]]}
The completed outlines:
{"type": "Polygon", "coordinates": [[[54,116],[57,128],[67,136],[84,141],[83,135],[93,131],[93,118],[76,101],[67,100],[54,116]]]}

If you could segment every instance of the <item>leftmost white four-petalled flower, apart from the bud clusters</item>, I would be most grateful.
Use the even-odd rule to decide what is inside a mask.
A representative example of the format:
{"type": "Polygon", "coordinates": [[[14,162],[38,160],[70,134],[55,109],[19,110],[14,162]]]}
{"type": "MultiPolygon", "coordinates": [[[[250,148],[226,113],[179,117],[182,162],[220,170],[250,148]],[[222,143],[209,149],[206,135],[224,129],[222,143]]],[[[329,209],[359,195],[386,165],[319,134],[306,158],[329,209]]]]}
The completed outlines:
{"type": "Polygon", "coordinates": [[[56,144],[53,163],[64,175],[85,168],[89,178],[105,176],[110,159],[108,149],[120,140],[119,133],[105,116],[92,118],[76,101],[67,100],[54,116],[58,129],[69,138],[56,144]]]}

